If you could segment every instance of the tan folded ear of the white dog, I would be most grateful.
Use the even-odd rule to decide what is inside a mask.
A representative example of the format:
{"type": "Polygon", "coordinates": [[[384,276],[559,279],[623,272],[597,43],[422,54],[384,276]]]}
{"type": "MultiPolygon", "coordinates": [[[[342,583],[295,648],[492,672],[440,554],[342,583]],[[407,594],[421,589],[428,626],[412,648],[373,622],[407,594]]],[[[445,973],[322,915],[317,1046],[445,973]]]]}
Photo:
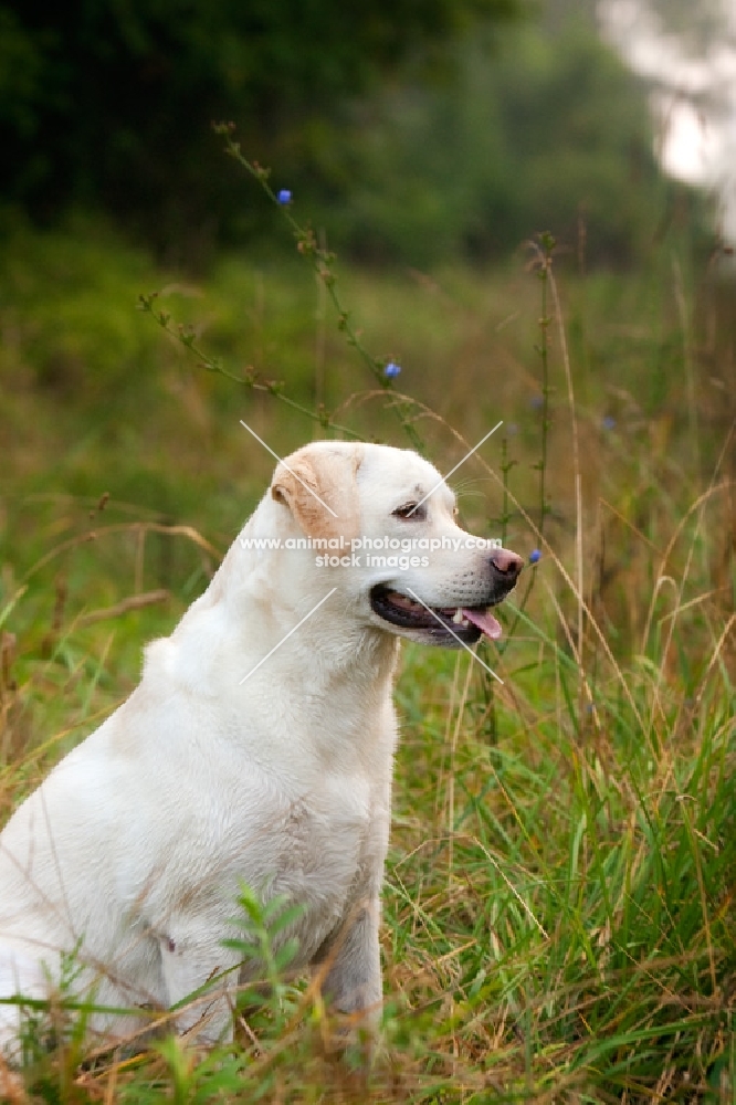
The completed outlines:
{"type": "Polygon", "coordinates": [[[307,537],[351,540],[360,533],[356,475],[361,459],[358,446],[330,452],[305,445],[280,463],[271,494],[307,537]]]}

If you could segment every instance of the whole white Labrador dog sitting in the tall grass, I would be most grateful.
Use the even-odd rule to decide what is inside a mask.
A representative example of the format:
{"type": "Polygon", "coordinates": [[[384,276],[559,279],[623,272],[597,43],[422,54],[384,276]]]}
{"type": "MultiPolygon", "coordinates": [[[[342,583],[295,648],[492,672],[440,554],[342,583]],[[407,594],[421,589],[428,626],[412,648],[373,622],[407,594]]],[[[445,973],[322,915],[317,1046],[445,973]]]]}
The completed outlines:
{"type": "MultiPolygon", "coordinates": [[[[521,559],[465,550],[429,570],[367,557],[318,568],[314,549],[244,546],[341,536],[350,560],[360,534],[464,539],[453,506],[407,451],[317,442],[278,466],[208,590],[148,646],[140,685],[0,835],[0,998],[45,997],[69,951],[84,966],[76,991],[91,987],[97,1006],[168,1008],[229,970],[198,1024],[222,1036],[228,990],[249,971],[222,943],[238,935],[245,883],[302,907],[283,934],[298,940],[294,966],[325,964],[338,1009],[378,1009],[398,638],[454,645],[454,608],[467,615],[461,640],[496,635],[485,608],[521,559]]],[[[0,1046],[18,1023],[0,1004],[0,1046]]],[[[114,1039],[135,1018],[93,1025],[114,1039]]]]}

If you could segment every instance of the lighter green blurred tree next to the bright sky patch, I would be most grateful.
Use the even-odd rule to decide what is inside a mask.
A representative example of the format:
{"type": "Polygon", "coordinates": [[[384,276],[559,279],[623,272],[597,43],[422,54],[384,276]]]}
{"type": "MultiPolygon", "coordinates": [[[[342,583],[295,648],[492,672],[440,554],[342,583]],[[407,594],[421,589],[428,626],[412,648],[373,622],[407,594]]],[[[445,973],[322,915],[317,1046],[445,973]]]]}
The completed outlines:
{"type": "Polygon", "coordinates": [[[666,229],[675,193],[690,201],[662,177],[648,90],[601,41],[592,2],[549,2],[503,32],[492,64],[474,35],[458,65],[448,88],[371,101],[348,134],[350,187],[324,212],[338,249],[495,260],[550,230],[591,263],[627,264],[666,229]]]}

